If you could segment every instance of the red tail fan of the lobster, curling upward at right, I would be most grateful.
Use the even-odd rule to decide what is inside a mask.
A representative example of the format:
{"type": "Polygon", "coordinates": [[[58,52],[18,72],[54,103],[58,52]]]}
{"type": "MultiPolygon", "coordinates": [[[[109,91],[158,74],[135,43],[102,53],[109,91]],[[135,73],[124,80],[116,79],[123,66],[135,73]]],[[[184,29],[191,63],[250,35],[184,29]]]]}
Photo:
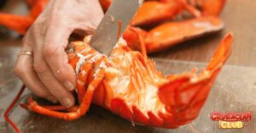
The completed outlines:
{"type": "MultiPolygon", "coordinates": [[[[232,38],[232,34],[225,36],[201,74],[172,75],[169,82],[160,87],[158,95],[167,112],[172,114],[172,124],[189,123],[198,116],[219,70],[230,55],[232,38]]],[[[166,119],[170,118],[164,115],[166,119]]]]}

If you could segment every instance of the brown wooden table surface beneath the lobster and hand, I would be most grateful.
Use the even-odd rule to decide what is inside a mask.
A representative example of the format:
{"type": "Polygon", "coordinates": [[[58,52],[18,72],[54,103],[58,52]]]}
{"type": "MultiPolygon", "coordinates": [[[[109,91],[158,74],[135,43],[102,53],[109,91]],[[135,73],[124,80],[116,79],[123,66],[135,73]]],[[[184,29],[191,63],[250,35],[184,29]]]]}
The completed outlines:
{"type": "MultiPolygon", "coordinates": [[[[18,2],[20,3],[20,1],[18,2]]],[[[218,80],[212,89],[210,97],[208,97],[201,115],[191,125],[185,125],[177,130],[158,129],[141,125],[132,126],[130,122],[96,106],[92,106],[90,112],[81,119],[70,122],[33,114],[20,107],[16,107],[10,117],[23,132],[255,133],[255,120],[241,130],[220,130],[218,129],[218,122],[209,118],[209,114],[212,111],[223,113],[226,111],[240,113],[253,111],[256,113],[255,9],[256,3],[253,0],[230,0],[221,14],[221,18],[224,19],[226,25],[223,31],[185,42],[162,53],[150,56],[158,58],[156,59],[157,67],[165,73],[177,73],[193,67],[202,68],[211,58],[212,53],[218,47],[218,43],[224,35],[229,31],[233,31],[235,42],[233,53],[227,62],[229,65],[226,65],[218,76],[218,80]],[[172,59],[172,61],[159,58],[172,59]]],[[[4,8],[4,10],[9,11],[10,9],[4,8]]],[[[24,6],[21,6],[19,10],[24,13],[24,6]]],[[[0,132],[11,133],[15,131],[4,121],[2,115],[3,110],[7,108],[21,86],[20,80],[12,72],[16,53],[20,49],[20,37],[14,37],[13,33],[11,35],[9,33],[1,33],[0,48],[0,132]]],[[[28,96],[29,94],[23,96],[20,101],[26,100],[28,96]]]]}

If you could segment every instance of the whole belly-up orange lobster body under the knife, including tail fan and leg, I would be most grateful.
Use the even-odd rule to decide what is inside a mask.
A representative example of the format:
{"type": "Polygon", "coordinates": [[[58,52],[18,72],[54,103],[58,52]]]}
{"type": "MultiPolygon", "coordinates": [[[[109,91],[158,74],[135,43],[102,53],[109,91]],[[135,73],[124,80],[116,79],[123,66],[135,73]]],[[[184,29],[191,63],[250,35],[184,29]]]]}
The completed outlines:
{"type": "MultiPolygon", "coordinates": [[[[109,57],[84,42],[67,48],[69,64],[78,75],[79,105],[59,112],[30,100],[27,108],[51,117],[73,120],[86,114],[90,103],[108,108],[124,119],[143,125],[177,128],[195,119],[219,70],[230,55],[232,34],[225,36],[206,69],[163,75],[142,53],[131,51],[121,38],[109,57]]],[[[60,107],[58,107],[60,108],[60,107]]],[[[63,108],[62,108],[63,109],[63,108]]]]}

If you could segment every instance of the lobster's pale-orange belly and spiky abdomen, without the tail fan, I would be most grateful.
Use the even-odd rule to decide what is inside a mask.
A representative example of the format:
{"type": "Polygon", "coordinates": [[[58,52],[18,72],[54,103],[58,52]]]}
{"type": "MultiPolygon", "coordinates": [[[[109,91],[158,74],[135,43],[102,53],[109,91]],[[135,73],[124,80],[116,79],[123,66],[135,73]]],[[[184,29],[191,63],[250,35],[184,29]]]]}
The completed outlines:
{"type": "MultiPolygon", "coordinates": [[[[81,67],[77,81],[77,86],[80,87],[78,90],[85,91],[88,83],[90,84],[96,78],[96,73],[102,69],[104,78],[93,93],[92,103],[108,108],[130,121],[154,125],[155,122],[150,124],[146,115],[149,112],[151,114],[166,112],[164,104],[158,97],[158,88],[165,85],[168,80],[154,68],[153,62],[144,58],[141,53],[131,51],[125,41],[117,44],[108,59],[101,53],[92,53],[88,42],[85,44],[84,46],[81,43],[83,46],[79,46],[75,42],[72,45],[76,55],[69,54],[70,64],[78,70],[77,68],[81,67],[79,60],[85,58],[86,61],[81,64],[86,66],[86,62],[95,62],[96,70],[92,69],[88,72],[84,70],[86,67],[81,67]],[[81,47],[83,48],[79,50],[81,47]],[[84,51],[87,52],[83,53],[84,51]],[[88,56],[88,53],[92,56],[88,56]],[[87,80],[84,80],[85,73],[88,73],[87,80]]],[[[79,99],[82,101],[82,98],[79,99]]]]}

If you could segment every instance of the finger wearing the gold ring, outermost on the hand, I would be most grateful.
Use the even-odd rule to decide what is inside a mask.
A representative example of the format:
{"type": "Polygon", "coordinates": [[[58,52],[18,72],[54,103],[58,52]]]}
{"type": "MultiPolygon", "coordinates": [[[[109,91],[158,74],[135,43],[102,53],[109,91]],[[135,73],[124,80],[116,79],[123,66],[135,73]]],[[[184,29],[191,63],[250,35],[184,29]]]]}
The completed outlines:
{"type": "MultiPolygon", "coordinates": [[[[31,51],[31,50],[26,50],[31,51]]],[[[20,55],[15,64],[15,75],[19,76],[23,80],[24,84],[31,89],[33,93],[38,95],[38,97],[44,97],[56,103],[57,100],[53,97],[43,83],[38,79],[32,66],[32,56],[31,55],[20,55]]]]}

